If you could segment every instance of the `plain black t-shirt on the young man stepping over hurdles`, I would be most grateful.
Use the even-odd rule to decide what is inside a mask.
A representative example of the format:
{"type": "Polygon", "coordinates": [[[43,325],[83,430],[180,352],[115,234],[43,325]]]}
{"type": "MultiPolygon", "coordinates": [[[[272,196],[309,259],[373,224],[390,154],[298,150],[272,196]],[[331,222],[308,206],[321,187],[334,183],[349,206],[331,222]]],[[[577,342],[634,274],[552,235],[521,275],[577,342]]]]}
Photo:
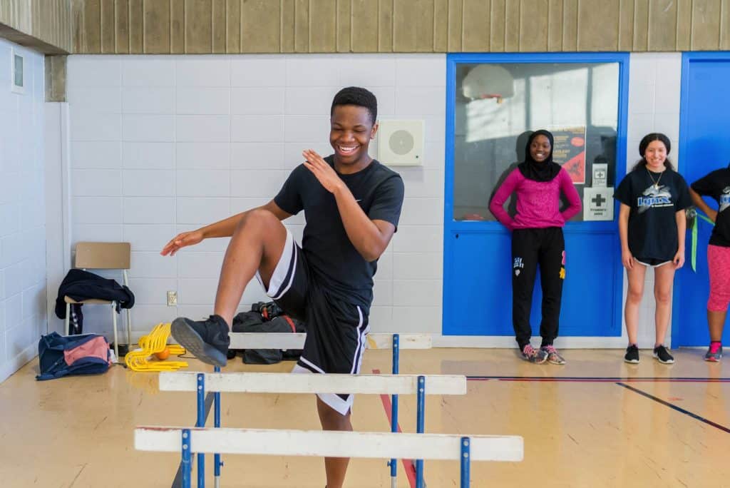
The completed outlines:
{"type": "MultiPolygon", "coordinates": [[[[334,167],[334,156],[325,161],[334,167]]],[[[371,220],[398,226],[404,195],[398,173],[373,160],[352,175],[338,175],[371,220]]],[[[377,260],[367,262],[350,242],[334,195],[301,164],[291,172],[274,202],[292,215],[304,210],[307,224],[301,249],[318,283],[339,300],[369,309],[377,260]]]]}

